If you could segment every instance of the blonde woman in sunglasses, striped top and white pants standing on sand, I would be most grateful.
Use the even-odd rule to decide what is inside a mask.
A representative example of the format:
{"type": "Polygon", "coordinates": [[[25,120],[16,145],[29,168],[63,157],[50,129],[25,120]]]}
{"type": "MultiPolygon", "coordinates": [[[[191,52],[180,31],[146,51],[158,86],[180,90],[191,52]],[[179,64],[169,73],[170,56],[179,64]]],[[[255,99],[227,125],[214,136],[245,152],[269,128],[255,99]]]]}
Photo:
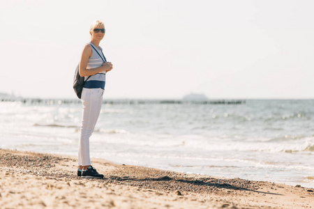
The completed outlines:
{"type": "Polygon", "coordinates": [[[80,76],[84,77],[85,83],[82,91],[82,126],[80,132],[77,176],[84,178],[103,178],[91,166],[89,156],[89,137],[94,132],[101,104],[103,103],[103,92],[105,89],[106,72],[112,70],[112,63],[105,60],[100,40],[105,36],[103,22],[96,21],[91,24],[89,30],[91,40],[84,46],[80,59],[80,76]]]}

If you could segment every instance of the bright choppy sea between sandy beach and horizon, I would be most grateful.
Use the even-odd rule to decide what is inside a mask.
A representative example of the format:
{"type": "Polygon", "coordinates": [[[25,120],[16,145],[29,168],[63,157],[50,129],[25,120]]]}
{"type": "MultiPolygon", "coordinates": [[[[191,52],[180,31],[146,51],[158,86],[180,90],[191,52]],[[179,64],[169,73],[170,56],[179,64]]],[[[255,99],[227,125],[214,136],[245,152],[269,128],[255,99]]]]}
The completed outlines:
{"type": "MultiPolygon", "coordinates": [[[[80,100],[0,101],[0,148],[77,155],[80,100]]],[[[314,187],[314,100],[104,100],[91,157],[314,187]]],[[[0,159],[1,160],[1,159],[0,159]]]]}

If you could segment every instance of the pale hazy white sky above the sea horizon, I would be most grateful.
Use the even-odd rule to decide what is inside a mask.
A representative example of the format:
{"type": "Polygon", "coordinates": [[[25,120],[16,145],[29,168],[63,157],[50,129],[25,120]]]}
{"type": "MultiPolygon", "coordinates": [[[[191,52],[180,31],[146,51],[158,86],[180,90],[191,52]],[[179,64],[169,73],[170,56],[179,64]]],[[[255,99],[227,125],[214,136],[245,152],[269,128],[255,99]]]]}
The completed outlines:
{"type": "Polygon", "coordinates": [[[105,98],[314,98],[313,2],[0,0],[0,92],[75,98],[102,20],[105,98]]]}

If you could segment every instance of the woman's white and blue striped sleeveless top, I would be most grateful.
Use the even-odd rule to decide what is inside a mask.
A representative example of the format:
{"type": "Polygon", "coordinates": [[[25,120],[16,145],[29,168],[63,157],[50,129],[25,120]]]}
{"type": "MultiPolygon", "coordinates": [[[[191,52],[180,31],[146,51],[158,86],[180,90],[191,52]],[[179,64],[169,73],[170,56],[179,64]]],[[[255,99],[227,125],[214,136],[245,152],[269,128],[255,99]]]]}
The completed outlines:
{"type": "MultiPolygon", "coordinates": [[[[88,42],[88,44],[93,45],[91,42],[88,42]]],[[[103,53],[101,52],[101,50],[103,50],[101,47],[99,47],[100,49],[98,49],[95,45],[93,45],[93,47],[98,51],[98,53],[100,54],[100,56],[103,57],[103,53]]],[[[97,54],[97,52],[95,52],[95,49],[91,47],[91,57],[89,57],[89,62],[87,63],[87,70],[88,69],[93,69],[93,68],[98,68],[101,65],[103,65],[103,60],[105,60],[105,57],[103,57],[103,59],[100,58],[100,56],[97,54]]],[[[84,80],[86,81],[86,79],[89,76],[85,76],[84,80]]],[[[91,75],[91,77],[89,77],[89,79],[87,80],[87,82],[84,83],[84,88],[102,88],[103,90],[105,90],[105,82],[106,82],[106,72],[98,72],[95,75],[91,75]]]]}

